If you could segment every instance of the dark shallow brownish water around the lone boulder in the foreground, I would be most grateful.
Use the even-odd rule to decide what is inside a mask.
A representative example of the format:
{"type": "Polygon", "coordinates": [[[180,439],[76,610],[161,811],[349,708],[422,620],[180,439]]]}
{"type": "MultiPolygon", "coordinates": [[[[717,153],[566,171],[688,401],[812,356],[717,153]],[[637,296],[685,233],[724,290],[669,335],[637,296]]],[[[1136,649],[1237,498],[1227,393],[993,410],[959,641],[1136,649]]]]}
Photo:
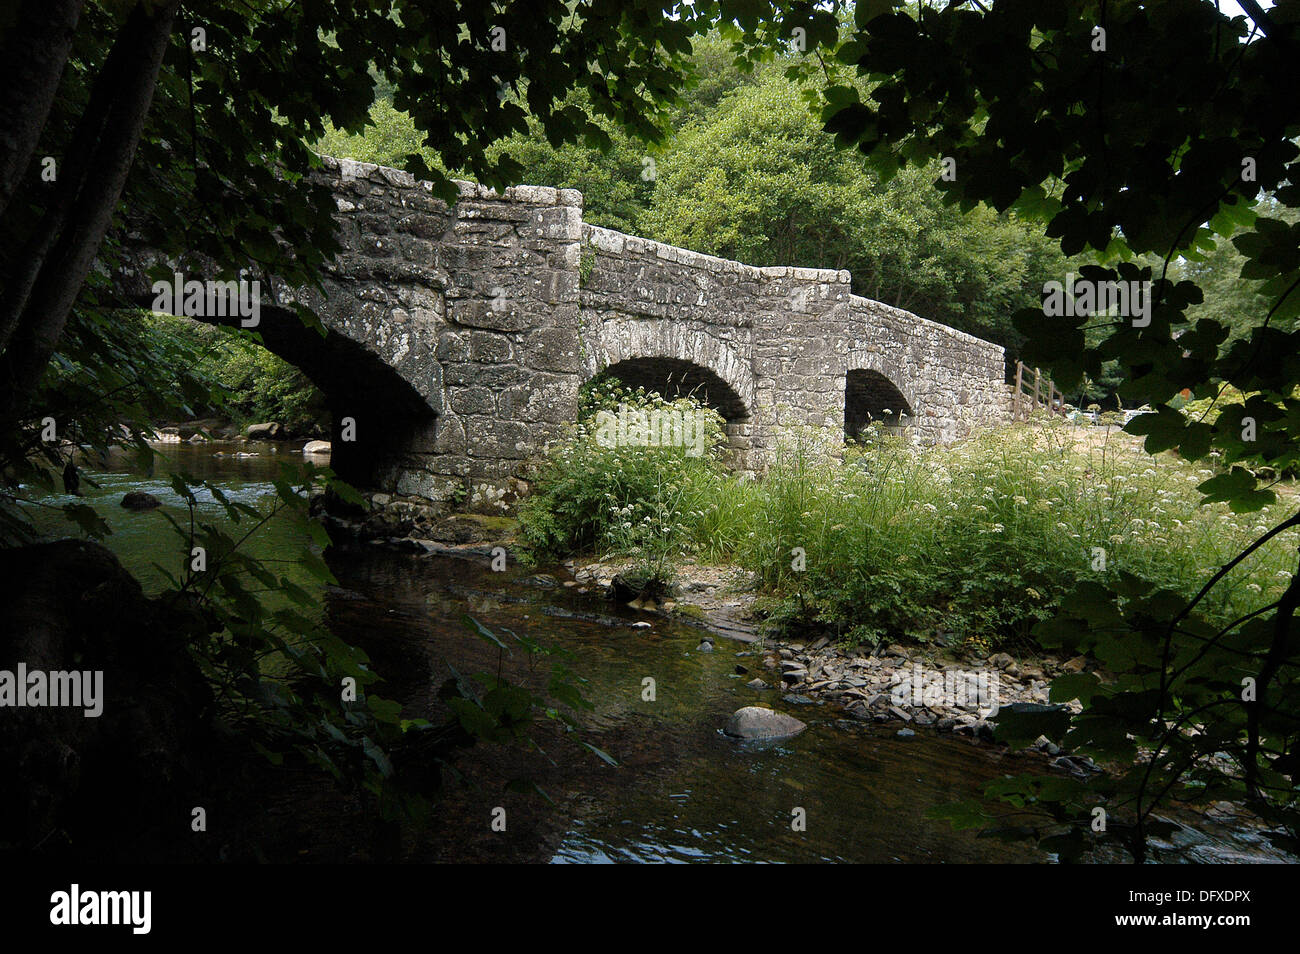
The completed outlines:
{"type": "Polygon", "coordinates": [[[897,738],[894,729],[842,721],[829,706],[788,706],[771,690],[745,686],[753,672],[734,671],[762,671],[762,655],[749,646],[720,641],[714,652],[698,652],[693,626],[637,629],[632,615],[621,626],[581,619],[618,611],[562,590],[508,587],[486,560],[372,551],[341,555],[333,567],[352,587],[332,600],[335,632],[367,645],[380,671],[377,643],[413,643],[404,678],[393,686],[399,698],[419,698],[452,660],[458,669],[494,668],[495,651],[460,624],[465,611],[494,630],[526,632],[572,654],[566,663],[588,680],[584,694],[595,703],[582,720],[585,738],[620,766],[576,746],[551,753],[563,771],[547,779],[555,786],[547,793],[569,811],[555,862],[1031,857],[924,816],[931,806],[972,797],[982,780],[1020,759],[937,734],[897,738]],[[655,681],[654,702],[642,698],[646,678],[655,681]],[[776,743],[724,737],[727,717],[749,704],[775,704],[809,729],[776,743]],[[794,808],[803,808],[807,831],[792,831],[794,808]]]}

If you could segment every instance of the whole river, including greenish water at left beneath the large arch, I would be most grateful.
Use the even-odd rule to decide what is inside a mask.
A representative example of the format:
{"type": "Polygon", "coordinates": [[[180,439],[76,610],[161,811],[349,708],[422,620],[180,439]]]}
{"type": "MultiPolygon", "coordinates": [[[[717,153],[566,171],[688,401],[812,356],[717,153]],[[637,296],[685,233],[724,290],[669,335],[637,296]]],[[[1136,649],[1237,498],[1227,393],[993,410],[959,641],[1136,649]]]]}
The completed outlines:
{"type": "MultiPolygon", "coordinates": [[[[83,483],[88,499],[112,504],[101,507],[113,529],[105,543],[146,589],[162,585],[155,563],[174,572],[185,552],[161,512],[186,515],[168,468],[220,482],[229,496],[265,506],[281,461],[299,460],[269,445],[166,445],[159,451],[153,476],[133,474],[125,460],[114,459],[107,472],[90,474],[98,489],[83,483]],[[217,451],[259,456],[213,456],[217,451]],[[131,489],[153,494],[162,508],[117,507],[131,489]]],[[[218,517],[216,502],[200,499],[200,506],[207,517],[218,517]]],[[[47,512],[43,521],[49,520],[47,512]]],[[[311,542],[272,522],[250,546],[283,561],[277,564],[283,568],[311,542]]],[[[468,634],[462,623],[468,612],[489,628],[526,633],[566,651],[566,664],[586,680],[584,694],[594,703],[582,715],[582,738],[619,763],[611,767],[546,730],[538,733],[542,754],[484,745],[459,753],[455,768],[464,782],[450,785],[439,801],[436,831],[419,859],[1050,860],[1023,845],[956,832],[927,816],[932,807],[976,797],[1000,775],[1045,771],[1037,756],[924,729],[901,738],[896,727],[844,719],[833,706],[785,704],[771,691],[745,685],[754,675],[748,671],[762,669],[762,655],[751,647],[720,639],[714,652],[701,652],[701,630],[693,625],[653,619],[649,629],[636,628],[632,624],[644,617],[632,611],[529,578],[538,569],[563,578],[556,568],[494,573],[486,558],[374,546],[330,548],[326,556],[338,585],[321,594],[321,620],[370,655],[386,678],[381,691],[400,701],[407,716],[439,717],[437,689],[448,667],[473,672],[503,664],[507,672],[523,672],[521,654],[499,660],[497,650],[468,634]],[[654,701],[644,698],[646,678],[654,680],[654,701]],[[777,743],[740,743],[722,734],[736,708],[774,702],[806,721],[807,730],[777,743]],[[504,793],[504,782],[521,773],[550,801],[536,792],[504,793]],[[490,827],[498,806],[507,811],[506,832],[490,827]],[[806,819],[803,831],[792,825],[796,810],[806,819]]],[[[1257,838],[1242,834],[1192,836],[1188,844],[1192,860],[1234,860],[1262,850],[1257,838]]]]}

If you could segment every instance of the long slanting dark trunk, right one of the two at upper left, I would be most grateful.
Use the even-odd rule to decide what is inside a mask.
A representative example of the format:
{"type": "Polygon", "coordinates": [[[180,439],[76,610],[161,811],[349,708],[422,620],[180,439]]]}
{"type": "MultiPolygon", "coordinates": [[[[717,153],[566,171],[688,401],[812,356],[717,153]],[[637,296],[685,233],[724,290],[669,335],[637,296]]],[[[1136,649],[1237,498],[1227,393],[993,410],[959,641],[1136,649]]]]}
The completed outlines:
{"type": "MultiPolygon", "coordinates": [[[[48,253],[31,248],[18,263],[34,270],[34,281],[21,309],[0,316],[13,321],[17,315],[0,356],[0,421],[12,422],[39,382],[99,253],[153,101],[177,5],[152,10],[138,4],[122,26],[74,136],[94,138],[94,146],[78,148],[79,175],[64,183],[61,201],[47,213],[57,227],[42,226],[44,240],[53,239],[48,253]]],[[[8,287],[5,299],[12,305],[8,287]]]]}

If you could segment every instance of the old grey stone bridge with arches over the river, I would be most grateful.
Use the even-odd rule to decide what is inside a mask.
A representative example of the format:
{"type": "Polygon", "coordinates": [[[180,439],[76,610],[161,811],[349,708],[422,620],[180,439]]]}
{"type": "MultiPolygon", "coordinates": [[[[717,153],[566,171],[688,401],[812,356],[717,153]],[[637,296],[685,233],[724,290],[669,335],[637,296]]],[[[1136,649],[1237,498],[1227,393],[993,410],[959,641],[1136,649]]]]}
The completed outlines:
{"type": "Polygon", "coordinates": [[[789,425],[853,434],[883,420],[941,443],[1008,417],[1001,347],[853,295],[848,272],[755,268],[586,225],[575,190],[459,183],[448,207],[399,170],[325,166],[344,252],[324,292],[273,282],[257,330],[325,393],[333,467],[359,485],[508,504],[604,370],[706,400],[748,471],[789,425]],[[276,317],[294,298],[324,339],[276,317]]]}

